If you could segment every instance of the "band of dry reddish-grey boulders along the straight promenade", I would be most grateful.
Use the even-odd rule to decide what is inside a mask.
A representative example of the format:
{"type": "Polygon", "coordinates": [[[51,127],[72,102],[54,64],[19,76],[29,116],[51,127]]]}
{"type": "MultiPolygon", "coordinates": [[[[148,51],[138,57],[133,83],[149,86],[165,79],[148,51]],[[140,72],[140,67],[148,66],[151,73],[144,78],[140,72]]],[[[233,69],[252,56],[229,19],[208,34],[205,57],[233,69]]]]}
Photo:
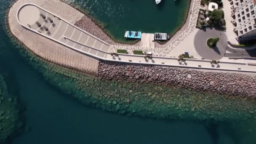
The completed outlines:
{"type": "Polygon", "coordinates": [[[256,76],[254,75],[103,61],[99,63],[98,74],[104,80],[152,83],[188,88],[193,91],[256,98],[256,76]]]}

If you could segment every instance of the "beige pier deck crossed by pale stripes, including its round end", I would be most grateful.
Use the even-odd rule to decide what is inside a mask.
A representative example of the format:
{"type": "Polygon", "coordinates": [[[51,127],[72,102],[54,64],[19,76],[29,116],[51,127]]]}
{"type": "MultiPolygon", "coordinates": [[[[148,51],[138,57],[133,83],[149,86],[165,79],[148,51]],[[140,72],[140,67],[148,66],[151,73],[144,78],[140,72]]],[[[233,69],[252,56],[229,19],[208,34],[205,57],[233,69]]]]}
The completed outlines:
{"type": "Polygon", "coordinates": [[[96,55],[99,58],[104,58],[110,51],[108,43],[72,26],[67,21],[36,5],[25,4],[21,6],[17,19],[21,25],[28,26],[34,32],[39,32],[58,43],[96,55]]]}

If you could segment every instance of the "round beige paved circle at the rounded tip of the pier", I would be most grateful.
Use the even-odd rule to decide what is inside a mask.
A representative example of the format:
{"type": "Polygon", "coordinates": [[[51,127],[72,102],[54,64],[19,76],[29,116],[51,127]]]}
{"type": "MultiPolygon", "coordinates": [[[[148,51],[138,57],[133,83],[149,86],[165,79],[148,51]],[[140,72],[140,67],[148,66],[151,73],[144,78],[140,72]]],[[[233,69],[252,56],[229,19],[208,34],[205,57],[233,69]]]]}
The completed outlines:
{"type": "Polygon", "coordinates": [[[40,11],[34,5],[25,5],[19,11],[19,21],[24,25],[35,24],[36,21],[40,18],[40,11]]]}

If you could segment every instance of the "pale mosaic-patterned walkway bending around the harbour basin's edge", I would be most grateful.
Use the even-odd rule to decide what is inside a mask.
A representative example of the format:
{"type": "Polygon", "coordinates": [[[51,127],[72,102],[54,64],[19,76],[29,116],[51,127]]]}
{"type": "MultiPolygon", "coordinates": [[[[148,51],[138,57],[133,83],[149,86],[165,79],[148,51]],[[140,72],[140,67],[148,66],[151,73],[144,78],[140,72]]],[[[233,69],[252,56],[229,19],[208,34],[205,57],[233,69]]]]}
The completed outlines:
{"type": "MultiPolygon", "coordinates": [[[[174,48],[176,48],[179,43],[181,43],[188,35],[190,35],[196,27],[197,23],[197,16],[200,8],[201,0],[194,0],[192,5],[192,13],[189,20],[189,25],[187,29],[185,29],[176,39],[174,39],[167,47],[165,48],[141,48],[141,47],[134,47],[134,46],[125,46],[125,45],[112,45],[112,52],[115,53],[117,49],[125,49],[128,53],[132,54],[134,50],[141,50],[141,51],[151,51],[154,56],[166,56],[170,53],[174,48]]],[[[189,12],[190,14],[190,12],[189,12]]],[[[174,36],[173,36],[174,37],[174,36]]]]}

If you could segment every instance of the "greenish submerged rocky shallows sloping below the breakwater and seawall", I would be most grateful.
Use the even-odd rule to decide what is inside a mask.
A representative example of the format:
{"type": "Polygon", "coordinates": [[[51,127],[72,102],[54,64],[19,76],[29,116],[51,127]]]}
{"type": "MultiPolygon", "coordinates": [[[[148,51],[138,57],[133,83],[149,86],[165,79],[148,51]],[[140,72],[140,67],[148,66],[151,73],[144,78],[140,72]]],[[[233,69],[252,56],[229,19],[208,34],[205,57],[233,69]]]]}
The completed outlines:
{"type": "Polygon", "coordinates": [[[213,139],[218,139],[219,133],[224,132],[235,144],[256,143],[254,99],[155,84],[101,80],[45,61],[16,40],[11,43],[48,83],[87,107],[155,120],[199,121],[212,133],[213,139]]]}

